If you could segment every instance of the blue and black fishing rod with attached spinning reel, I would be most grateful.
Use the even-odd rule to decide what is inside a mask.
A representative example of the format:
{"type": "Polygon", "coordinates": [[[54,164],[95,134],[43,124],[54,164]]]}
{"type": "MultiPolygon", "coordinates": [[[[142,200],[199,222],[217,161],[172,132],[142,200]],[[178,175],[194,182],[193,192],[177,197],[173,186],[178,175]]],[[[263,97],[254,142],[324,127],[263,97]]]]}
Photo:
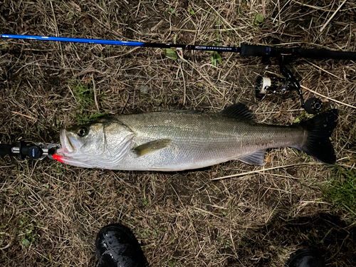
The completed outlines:
{"type": "Polygon", "coordinates": [[[323,103],[318,98],[310,98],[304,102],[303,93],[298,80],[286,66],[290,58],[313,58],[313,59],[345,59],[356,61],[356,52],[330,51],[326,49],[304,49],[304,48],[276,48],[273,46],[260,46],[242,43],[241,47],[231,46],[195,46],[174,43],[144,43],[132,41],[115,41],[88,38],[66,38],[54,36],[28,36],[1,34],[1,38],[27,39],[39,41],[59,41],[72,43],[100,43],[113,46],[136,46],[150,48],[171,48],[182,50],[214,51],[214,52],[235,52],[240,56],[267,56],[279,59],[280,70],[285,78],[278,77],[258,77],[255,85],[256,97],[263,100],[266,95],[284,95],[289,91],[296,91],[300,96],[300,105],[310,114],[318,113],[323,108],[323,103]]]}

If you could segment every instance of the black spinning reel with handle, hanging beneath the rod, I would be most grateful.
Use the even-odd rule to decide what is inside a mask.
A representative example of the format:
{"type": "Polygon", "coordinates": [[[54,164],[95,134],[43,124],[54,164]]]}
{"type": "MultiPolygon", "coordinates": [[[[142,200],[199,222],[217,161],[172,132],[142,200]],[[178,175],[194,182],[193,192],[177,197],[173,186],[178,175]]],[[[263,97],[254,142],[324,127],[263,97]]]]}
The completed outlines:
{"type": "Polygon", "coordinates": [[[318,98],[309,98],[304,102],[303,93],[298,80],[283,63],[280,61],[280,70],[284,77],[258,77],[255,85],[256,98],[265,99],[267,95],[284,95],[288,91],[295,90],[300,96],[300,104],[309,114],[316,114],[323,109],[323,102],[318,98]]]}

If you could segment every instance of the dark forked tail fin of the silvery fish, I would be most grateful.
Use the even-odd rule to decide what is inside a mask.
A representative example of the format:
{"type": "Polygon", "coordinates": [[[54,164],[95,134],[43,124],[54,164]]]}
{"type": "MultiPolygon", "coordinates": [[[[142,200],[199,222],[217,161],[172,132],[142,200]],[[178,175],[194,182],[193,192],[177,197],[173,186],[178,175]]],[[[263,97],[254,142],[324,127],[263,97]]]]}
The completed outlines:
{"type": "Polygon", "coordinates": [[[301,147],[296,148],[320,160],[320,162],[334,164],[336,155],[329,137],[337,125],[336,120],[337,110],[331,110],[305,122],[300,122],[300,126],[308,131],[308,140],[301,147]]]}

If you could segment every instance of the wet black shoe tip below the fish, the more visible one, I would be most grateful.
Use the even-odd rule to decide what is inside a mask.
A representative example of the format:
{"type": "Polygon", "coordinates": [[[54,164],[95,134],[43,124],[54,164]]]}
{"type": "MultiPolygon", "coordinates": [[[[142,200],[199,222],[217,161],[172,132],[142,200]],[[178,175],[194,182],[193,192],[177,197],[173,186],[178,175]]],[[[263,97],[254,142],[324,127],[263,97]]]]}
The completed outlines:
{"type": "Polygon", "coordinates": [[[145,267],[147,260],[132,231],[122,224],[100,229],[95,240],[99,264],[103,267],[145,267]]]}

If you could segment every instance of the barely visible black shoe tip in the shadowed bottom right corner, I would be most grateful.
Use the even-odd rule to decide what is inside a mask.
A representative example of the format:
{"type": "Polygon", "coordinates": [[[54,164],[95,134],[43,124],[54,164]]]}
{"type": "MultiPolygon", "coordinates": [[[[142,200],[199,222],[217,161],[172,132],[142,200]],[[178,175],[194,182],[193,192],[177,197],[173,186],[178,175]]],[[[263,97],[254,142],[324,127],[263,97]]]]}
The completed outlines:
{"type": "Polygon", "coordinates": [[[325,263],[318,251],[303,248],[290,255],[285,267],[325,267],[325,263]]]}

